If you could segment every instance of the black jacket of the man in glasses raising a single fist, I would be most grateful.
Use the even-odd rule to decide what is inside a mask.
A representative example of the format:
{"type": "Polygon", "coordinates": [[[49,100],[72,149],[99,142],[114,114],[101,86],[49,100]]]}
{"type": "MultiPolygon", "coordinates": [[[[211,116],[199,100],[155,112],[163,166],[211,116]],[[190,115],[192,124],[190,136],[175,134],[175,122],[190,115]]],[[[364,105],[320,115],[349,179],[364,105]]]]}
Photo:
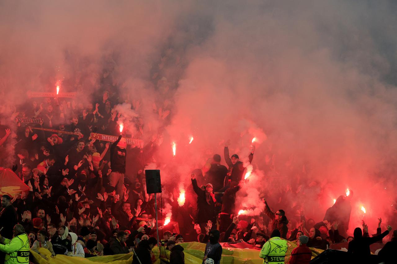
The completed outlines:
{"type": "Polygon", "coordinates": [[[208,220],[214,222],[216,215],[214,201],[210,199],[210,203],[207,203],[206,191],[198,187],[196,179],[192,179],[192,185],[195,193],[197,193],[197,222],[204,223],[208,220]]]}

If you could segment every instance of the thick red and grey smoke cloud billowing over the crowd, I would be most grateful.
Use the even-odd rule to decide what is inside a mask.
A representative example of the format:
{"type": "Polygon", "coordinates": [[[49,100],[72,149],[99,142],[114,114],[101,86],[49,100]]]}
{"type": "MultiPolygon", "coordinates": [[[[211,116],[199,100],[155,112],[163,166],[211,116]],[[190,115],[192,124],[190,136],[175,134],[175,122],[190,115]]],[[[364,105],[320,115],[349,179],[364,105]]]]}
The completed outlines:
{"type": "MultiPolygon", "coordinates": [[[[308,217],[322,220],[349,187],[351,227],[361,206],[370,229],[378,217],[395,220],[393,1],[44,1],[0,9],[2,105],[23,104],[26,90],[54,89],[63,77],[65,90],[85,98],[118,87],[140,101],[152,134],[161,126],[153,103],[166,98],[171,112],[156,157],[163,182],[180,179],[186,188],[191,170],[222,155],[228,139],[246,162],[256,137],[247,186],[270,205],[292,207],[297,196],[308,217]],[[153,81],[158,69],[170,90],[153,81]]],[[[259,203],[244,193],[237,206],[259,203]]]]}

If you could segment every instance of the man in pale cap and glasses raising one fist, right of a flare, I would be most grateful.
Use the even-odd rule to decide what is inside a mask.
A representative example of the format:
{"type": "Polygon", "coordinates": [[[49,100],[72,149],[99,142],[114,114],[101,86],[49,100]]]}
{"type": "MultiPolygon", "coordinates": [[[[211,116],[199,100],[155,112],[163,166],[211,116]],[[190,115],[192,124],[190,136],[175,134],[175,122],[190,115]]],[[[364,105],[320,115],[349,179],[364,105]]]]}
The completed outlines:
{"type": "MultiPolygon", "coordinates": [[[[197,185],[196,175],[191,174],[193,190],[197,194],[197,222],[200,225],[201,233],[205,234],[205,228],[208,220],[216,223],[216,210],[215,210],[215,194],[213,192],[212,184],[207,183],[205,189],[202,190],[197,185]]],[[[212,226],[216,229],[216,225],[212,226]]]]}

